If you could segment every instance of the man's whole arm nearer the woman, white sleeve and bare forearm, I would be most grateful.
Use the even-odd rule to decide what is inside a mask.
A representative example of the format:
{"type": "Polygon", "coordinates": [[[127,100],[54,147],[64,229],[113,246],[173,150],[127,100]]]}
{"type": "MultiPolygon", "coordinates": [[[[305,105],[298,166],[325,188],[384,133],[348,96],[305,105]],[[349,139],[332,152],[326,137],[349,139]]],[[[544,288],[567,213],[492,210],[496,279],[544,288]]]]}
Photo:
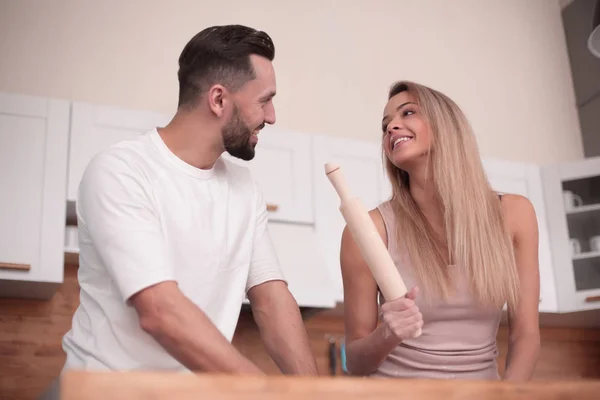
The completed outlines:
{"type": "Polygon", "coordinates": [[[315,357],[296,300],[279,267],[268,212],[255,183],[256,228],[246,293],[267,352],[286,374],[317,375],[315,357]]]}

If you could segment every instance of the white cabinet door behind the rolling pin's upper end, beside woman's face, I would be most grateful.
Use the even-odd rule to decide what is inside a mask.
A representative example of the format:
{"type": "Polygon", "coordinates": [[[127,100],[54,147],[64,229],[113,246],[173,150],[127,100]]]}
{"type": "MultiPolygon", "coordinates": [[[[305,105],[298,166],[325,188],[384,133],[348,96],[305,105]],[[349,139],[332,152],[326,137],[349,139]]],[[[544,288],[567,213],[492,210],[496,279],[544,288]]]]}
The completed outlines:
{"type": "Polygon", "coordinates": [[[381,149],[378,143],[329,136],[313,137],[313,181],[315,185],[315,227],[331,274],[336,301],[343,301],[340,270],[340,241],[346,225],[340,214],[339,197],[325,175],[325,164],[336,163],[353,195],[370,210],[389,193],[385,182],[381,149]]]}

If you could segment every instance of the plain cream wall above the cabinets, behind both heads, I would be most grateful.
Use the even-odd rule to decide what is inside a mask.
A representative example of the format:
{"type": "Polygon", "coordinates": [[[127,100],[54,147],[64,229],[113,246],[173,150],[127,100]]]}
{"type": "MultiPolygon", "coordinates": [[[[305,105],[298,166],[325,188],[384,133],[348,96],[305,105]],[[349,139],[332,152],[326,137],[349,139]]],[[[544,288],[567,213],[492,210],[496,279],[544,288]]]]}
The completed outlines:
{"type": "Polygon", "coordinates": [[[453,97],[484,156],[583,157],[556,0],[0,0],[0,91],[172,113],[208,25],[276,44],[278,126],[378,140],[389,85],[453,97]]]}

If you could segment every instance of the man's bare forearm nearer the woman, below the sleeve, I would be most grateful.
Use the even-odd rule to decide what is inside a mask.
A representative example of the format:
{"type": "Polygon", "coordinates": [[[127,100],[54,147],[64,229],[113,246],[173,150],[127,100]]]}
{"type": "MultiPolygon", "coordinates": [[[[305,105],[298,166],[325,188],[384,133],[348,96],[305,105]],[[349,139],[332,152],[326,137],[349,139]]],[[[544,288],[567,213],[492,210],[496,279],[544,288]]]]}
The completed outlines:
{"type": "Polygon", "coordinates": [[[287,288],[253,305],[252,312],[267,352],[284,374],[318,375],[298,304],[287,288]]]}

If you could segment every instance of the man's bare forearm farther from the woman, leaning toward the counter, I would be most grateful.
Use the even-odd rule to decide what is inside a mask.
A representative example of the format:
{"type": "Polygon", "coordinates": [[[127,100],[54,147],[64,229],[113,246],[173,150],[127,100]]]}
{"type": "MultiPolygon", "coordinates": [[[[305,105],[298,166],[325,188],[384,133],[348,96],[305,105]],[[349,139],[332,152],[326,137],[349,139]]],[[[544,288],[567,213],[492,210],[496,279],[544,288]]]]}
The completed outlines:
{"type": "Polygon", "coordinates": [[[263,374],[183,295],[162,304],[160,313],[141,318],[140,323],[171,356],[191,371],[263,374]]]}

